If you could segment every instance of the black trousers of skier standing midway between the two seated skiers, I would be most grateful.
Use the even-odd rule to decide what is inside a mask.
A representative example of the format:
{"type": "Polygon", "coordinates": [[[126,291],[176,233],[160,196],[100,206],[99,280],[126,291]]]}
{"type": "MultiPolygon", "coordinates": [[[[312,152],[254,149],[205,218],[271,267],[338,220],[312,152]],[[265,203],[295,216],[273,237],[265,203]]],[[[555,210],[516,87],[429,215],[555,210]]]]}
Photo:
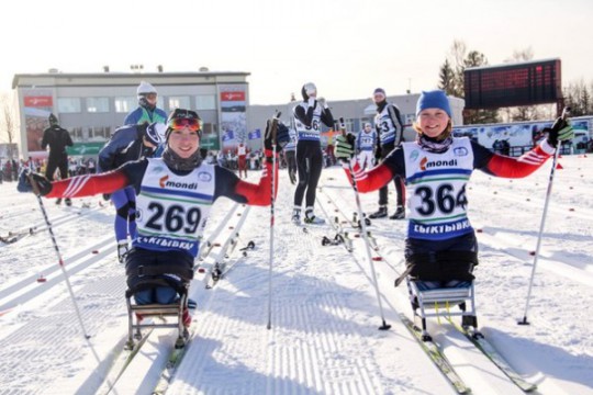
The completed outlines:
{"type": "Polygon", "coordinates": [[[305,207],[313,207],[323,169],[320,142],[300,140],[296,144],[296,169],[299,170],[299,183],[294,191],[294,206],[300,207],[303,203],[303,196],[305,196],[305,207]]]}

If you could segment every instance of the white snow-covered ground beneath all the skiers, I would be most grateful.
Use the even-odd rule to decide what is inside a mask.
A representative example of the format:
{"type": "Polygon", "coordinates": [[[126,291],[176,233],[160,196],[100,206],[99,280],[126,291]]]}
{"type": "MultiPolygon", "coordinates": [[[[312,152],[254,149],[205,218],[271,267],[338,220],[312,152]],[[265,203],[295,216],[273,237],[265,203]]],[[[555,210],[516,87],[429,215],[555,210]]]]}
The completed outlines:
{"type": "MultiPolygon", "coordinates": [[[[551,162],[551,161],[550,161],[551,162]]],[[[559,162],[542,237],[528,320],[525,311],[550,162],[522,180],[474,172],[470,219],[479,229],[477,308],[484,335],[540,394],[593,394],[593,158],[559,162]]],[[[256,179],[257,173],[250,178],[256,179]]],[[[213,290],[205,274],[192,283],[198,302],[195,339],[190,343],[171,394],[452,394],[440,372],[401,324],[411,314],[405,286],[393,280],[403,269],[405,221],[370,226],[384,256],[373,261],[381,314],[362,238],[354,252],[322,247],[329,225],[309,233],[289,221],[293,185],[281,173],[275,226],[271,329],[268,323],[269,208],[253,207],[240,230],[236,266],[213,290]]],[[[332,218],[334,203],[356,211],[340,168],[325,169],[317,193],[332,218]]],[[[390,188],[392,189],[392,188],[390,188]]],[[[361,196],[374,211],[377,193],[361,196]]],[[[392,202],[394,201],[391,195],[392,202]]],[[[0,236],[33,228],[15,242],[0,242],[0,394],[93,394],[101,388],[127,334],[124,268],[115,258],[114,210],[100,196],[72,207],[44,200],[76,294],[87,340],[65,286],[36,198],[15,183],[0,184],[0,236]],[[82,207],[86,203],[89,207],[82,207]],[[38,281],[43,279],[45,281],[38,281]]],[[[213,207],[206,230],[233,206],[213,207]]],[[[242,208],[239,207],[237,212],[242,208]]],[[[230,226],[236,223],[233,215],[230,226]]],[[[224,228],[222,240],[231,230],[224,228]]],[[[351,230],[356,236],[356,232],[351,230]]],[[[206,235],[208,236],[208,232],[206,235]]],[[[376,252],[373,252],[374,255],[376,252]]],[[[205,259],[208,269],[216,248],[205,259]]],[[[521,393],[444,319],[429,330],[474,394],[521,393]]],[[[155,330],[113,393],[149,394],[172,348],[175,331],[155,330]]]]}

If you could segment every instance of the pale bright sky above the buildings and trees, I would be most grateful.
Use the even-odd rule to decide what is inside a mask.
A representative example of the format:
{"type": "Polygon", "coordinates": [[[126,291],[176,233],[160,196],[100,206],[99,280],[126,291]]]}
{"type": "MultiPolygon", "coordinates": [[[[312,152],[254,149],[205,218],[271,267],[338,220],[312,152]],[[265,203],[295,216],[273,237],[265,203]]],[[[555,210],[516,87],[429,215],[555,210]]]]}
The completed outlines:
{"type": "Polygon", "coordinates": [[[455,40],[491,65],[530,48],[562,82],[593,81],[593,0],[10,1],[0,12],[0,91],[14,74],[247,71],[250,103],[328,101],[436,88],[455,40]],[[9,5],[10,4],[10,5],[9,5]]]}

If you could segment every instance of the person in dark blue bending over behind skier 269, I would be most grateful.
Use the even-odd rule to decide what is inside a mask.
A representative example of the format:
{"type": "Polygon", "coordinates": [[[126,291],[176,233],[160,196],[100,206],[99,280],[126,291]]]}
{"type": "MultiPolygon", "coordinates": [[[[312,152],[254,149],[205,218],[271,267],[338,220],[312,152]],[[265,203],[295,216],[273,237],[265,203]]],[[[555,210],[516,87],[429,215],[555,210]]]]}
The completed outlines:
{"type": "MultiPolygon", "coordinates": [[[[164,140],[165,129],[161,123],[119,127],[99,151],[99,172],[115,170],[128,161],[152,157],[164,140]]],[[[123,263],[130,250],[127,237],[130,235],[132,240],[136,237],[136,192],[131,185],[113,192],[110,199],[116,211],[113,226],[118,259],[123,263]]]]}

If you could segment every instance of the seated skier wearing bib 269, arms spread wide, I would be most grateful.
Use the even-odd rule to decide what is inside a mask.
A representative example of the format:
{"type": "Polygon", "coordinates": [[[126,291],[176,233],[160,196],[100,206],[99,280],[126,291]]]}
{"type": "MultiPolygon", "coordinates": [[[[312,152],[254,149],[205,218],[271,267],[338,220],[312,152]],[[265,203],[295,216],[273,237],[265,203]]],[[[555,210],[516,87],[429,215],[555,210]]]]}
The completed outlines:
{"type": "MultiPolygon", "coordinates": [[[[269,205],[272,171],[278,180],[278,166],[272,169],[272,145],[281,146],[288,140],[286,127],[278,128],[275,140],[268,124],[265,171],[259,183],[254,184],[240,180],[231,170],[203,163],[201,133],[198,113],[177,109],[169,115],[161,158],[143,158],[107,173],[53,183],[41,174],[31,176],[40,193],[47,198],[113,193],[134,187],[138,193],[138,236],[132,241],[133,248],[126,257],[127,285],[134,289],[144,279],[153,278],[189,283],[200,247],[199,236],[214,201],[225,196],[239,203],[269,205]]],[[[31,190],[26,180],[21,178],[19,190],[31,190]]],[[[139,305],[170,304],[178,294],[175,287],[163,285],[139,291],[134,297],[139,305]]],[[[186,308],[183,324],[190,323],[186,308]]]]}

